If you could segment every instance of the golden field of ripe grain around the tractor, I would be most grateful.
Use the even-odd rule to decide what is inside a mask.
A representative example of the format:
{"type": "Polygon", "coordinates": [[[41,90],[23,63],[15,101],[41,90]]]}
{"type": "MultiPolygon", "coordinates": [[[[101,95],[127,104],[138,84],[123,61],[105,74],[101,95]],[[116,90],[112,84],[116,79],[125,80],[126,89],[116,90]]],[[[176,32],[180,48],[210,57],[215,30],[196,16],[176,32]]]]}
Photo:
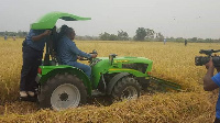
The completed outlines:
{"type": "MultiPolygon", "coordinates": [[[[199,49],[219,49],[217,43],[101,42],[76,41],[85,52],[97,49],[98,56],[140,56],[153,60],[152,75],[175,81],[182,92],[144,94],[138,100],[108,107],[89,103],[66,111],[40,110],[37,104],[19,102],[23,38],[0,38],[0,122],[109,122],[109,123],[208,123],[215,119],[218,92],[202,90],[205,67],[195,66],[199,49]]],[[[96,101],[96,100],[95,100],[96,101]]]]}

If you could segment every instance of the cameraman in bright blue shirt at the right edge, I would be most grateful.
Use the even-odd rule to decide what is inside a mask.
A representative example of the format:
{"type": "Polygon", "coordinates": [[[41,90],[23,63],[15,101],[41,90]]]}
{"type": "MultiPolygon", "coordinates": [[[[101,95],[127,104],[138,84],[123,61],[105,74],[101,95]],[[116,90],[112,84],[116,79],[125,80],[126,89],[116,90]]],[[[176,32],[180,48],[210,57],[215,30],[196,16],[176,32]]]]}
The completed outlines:
{"type": "MultiPolygon", "coordinates": [[[[207,74],[204,77],[204,90],[212,91],[217,88],[220,88],[220,68],[213,66],[212,58],[206,64],[206,68],[207,74]],[[213,76],[215,68],[217,69],[218,74],[213,76]]],[[[220,123],[220,98],[218,98],[216,105],[215,123],[220,123]]]]}

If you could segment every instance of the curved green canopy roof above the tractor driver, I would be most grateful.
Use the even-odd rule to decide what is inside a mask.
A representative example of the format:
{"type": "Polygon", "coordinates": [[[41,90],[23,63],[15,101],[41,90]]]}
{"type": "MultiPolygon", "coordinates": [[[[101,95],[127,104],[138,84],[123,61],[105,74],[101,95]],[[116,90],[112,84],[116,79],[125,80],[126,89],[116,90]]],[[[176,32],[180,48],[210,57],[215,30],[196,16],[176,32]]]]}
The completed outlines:
{"type": "Polygon", "coordinates": [[[31,29],[33,30],[44,30],[44,29],[53,29],[58,19],[63,19],[65,21],[84,21],[91,20],[91,18],[81,18],[69,13],[64,12],[51,12],[43,15],[40,20],[31,24],[31,29]]]}

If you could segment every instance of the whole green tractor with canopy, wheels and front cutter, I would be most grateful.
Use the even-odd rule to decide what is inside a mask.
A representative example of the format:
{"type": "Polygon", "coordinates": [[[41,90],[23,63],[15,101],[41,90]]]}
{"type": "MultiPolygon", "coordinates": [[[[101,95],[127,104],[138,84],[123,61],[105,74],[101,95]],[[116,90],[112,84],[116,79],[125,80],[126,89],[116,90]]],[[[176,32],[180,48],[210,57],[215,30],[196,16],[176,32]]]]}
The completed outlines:
{"type": "MultiPolygon", "coordinates": [[[[33,30],[53,29],[58,19],[65,21],[90,20],[69,13],[52,12],[45,14],[31,25],[33,30]]],[[[76,108],[87,103],[88,97],[107,96],[112,100],[136,99],[151,81],[163,87],[180,89],[179,85],[157,79],[151,76],[153,62],[144,57],[108,57],[87,59],[91,67],[91,79],[76,67],[59,65],[54,53],[56,32],[46,43],[46,53],[42,66],[38,68],[36,82],[38,86],[37,100],[41,108],[62,110],[76,108]],[[97,92],[98,91],[98,92],[97,92]]],[[[97,54],[94,51],[91,54],[97,54]]]]}

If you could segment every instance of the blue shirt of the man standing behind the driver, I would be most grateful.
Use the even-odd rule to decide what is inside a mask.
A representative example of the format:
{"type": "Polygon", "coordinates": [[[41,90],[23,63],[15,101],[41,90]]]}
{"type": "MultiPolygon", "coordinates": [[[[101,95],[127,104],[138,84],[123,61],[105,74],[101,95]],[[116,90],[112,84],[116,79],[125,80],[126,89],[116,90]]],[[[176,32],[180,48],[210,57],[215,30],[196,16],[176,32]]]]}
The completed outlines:
{"type": "Polygon", "coordinates": [[[26,45],[30,47],[36,49],[36,51],[43,51],[45,46],[45,42],[47,41],[47,36],[41,38],[40,41],[32,41],[32,36],[40,35],[44,33],[45,30],[30,30],[28,36],[26,36],[26,45]]]}

